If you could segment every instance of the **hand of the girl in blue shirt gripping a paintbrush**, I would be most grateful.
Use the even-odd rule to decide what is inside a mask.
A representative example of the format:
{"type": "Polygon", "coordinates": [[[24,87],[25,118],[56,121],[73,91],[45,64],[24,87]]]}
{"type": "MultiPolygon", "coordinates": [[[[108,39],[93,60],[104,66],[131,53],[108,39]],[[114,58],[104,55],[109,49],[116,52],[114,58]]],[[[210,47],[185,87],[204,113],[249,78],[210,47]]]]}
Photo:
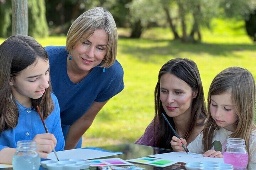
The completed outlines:
{"type": "Polygon", "coordinates": [[[37,134],[33,141],[37,143],[37,152],[41,158],[47,158],[57,144],[55,136],[51,133],[37,134]]]}

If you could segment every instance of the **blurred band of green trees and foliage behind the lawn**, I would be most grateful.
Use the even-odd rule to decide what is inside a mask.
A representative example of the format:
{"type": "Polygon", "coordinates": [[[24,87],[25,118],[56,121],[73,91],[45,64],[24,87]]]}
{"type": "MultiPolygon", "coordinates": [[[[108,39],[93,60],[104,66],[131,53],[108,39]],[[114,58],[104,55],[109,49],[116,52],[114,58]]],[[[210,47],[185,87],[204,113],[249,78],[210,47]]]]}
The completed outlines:
{"type": "MultiPolygon", "coordinates": [[[[47,36],[48,27],[59,34],[67,33],[72,22],[86,10],[101,6],[110,11],[118,27],[130,27],[131,37],[139,38],[152,26],[169,26],[174,39],[197,42],[202,27],[210,28],[214,17],[241,16],[246,20],[248,35],[254,30],[251,18],[255,0],[29,0],[30,36],[47,36]],[[46,2],[46,3],[45,3],[46,2]],[[46,13],[46,18],[45,18],[46,13]],[[47,21],[46,21],[47,19],[47,21]]],[[[11,0],[0,0],[0,36],[11,35],[11,0]]],[[[238,17],[239,18],[239,17],[238,17]]],[[[253,37],[252,37],[253,38],[253,37]]]]}

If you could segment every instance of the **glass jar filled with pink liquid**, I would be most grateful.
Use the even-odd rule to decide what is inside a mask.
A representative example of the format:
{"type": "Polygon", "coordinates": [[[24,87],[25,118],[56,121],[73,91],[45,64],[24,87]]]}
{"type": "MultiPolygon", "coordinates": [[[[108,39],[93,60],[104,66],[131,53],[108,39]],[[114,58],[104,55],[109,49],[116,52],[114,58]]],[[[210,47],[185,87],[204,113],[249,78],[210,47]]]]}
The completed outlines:
{"type": "Polygon", "coordinates": [[[245,140],[229,138],[223,153],[224,163],[232,164],[236,169],[244,169],[248,164],[248,152],[245,149],[245,140]]]}

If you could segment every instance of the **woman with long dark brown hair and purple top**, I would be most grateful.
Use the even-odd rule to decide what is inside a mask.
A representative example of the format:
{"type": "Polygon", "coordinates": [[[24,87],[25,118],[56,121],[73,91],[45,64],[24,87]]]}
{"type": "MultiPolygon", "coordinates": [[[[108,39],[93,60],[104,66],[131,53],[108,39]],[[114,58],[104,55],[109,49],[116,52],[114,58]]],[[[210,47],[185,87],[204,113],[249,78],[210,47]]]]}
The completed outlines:
{"type": "Polygon", "coordinates": [[[155,118],[136,144],[172,149],[171,141],[176,137],[162,113],[187,143],[203,130],[207,112],[200,74],[194,61],[176,58],[162,66],[155,87],[155,118]]]}

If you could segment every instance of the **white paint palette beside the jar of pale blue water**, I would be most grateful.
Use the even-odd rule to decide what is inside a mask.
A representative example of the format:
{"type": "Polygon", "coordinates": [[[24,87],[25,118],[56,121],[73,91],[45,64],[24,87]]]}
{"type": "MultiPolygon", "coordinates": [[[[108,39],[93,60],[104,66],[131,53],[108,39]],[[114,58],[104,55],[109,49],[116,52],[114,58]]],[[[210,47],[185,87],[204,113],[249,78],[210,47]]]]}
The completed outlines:
{"type": "Polygon", "coordinates": [[[41,161],[41,166],[49,170],[80,170],[87,169],[91,163],[83,159],[59,159],[41,161]]]}

